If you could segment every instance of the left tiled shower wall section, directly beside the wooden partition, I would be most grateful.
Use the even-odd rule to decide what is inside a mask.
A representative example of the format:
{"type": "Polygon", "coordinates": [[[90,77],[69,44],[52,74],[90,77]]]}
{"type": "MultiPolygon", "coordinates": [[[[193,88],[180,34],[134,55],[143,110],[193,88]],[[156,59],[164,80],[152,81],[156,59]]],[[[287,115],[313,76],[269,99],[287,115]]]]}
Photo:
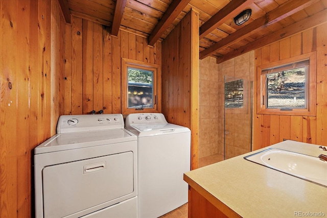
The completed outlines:
{"type": "Polygon", "coordinates": [[[223,80],[216,58],[200,60],[199,158],[223,154],[223,103],[219,96],[223,80]]]}

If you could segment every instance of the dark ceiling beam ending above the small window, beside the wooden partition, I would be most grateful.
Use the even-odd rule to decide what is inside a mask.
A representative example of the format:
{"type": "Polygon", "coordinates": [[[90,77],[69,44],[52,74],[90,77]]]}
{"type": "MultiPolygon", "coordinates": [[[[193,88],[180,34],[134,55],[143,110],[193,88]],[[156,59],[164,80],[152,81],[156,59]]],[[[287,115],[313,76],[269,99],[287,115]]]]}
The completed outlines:
{"type": "Polygon", "coordinates": [[[167,30],[167,28],[173,23],[176,17],[182,12],[182,10],[188,5],[190,0],[174,0],[164,16],[160,19],[158,24],[153,29],[148,38],[148,44],[153,46],[161,35],[167,30]]]}

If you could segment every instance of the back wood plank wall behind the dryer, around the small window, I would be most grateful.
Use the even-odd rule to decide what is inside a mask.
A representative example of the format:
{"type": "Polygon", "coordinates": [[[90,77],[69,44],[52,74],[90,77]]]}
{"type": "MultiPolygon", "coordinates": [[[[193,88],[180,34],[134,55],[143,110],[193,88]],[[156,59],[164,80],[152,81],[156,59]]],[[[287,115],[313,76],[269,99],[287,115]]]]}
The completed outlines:
{"type": "Polygon", "coordinates": [[[122,113],[121,58],[161,65],[161,42],[72,16],[65,27],[64,114],[122,113]]]}

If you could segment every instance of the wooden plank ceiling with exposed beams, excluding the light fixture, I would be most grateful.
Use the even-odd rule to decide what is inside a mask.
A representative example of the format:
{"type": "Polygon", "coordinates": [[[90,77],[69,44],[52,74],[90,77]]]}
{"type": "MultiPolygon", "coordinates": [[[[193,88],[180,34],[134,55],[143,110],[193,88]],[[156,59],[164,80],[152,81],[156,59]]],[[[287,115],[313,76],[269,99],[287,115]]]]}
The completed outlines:
{"type": "Polygon", "coordinates": [[[327,22],[327,0],[59,0],[66,22],[70,15],[163,40],[191,9],[199,12],[200,59],[217,63],[327,22]],[[251,9],[237,26],[233,17],[251,9]]]}

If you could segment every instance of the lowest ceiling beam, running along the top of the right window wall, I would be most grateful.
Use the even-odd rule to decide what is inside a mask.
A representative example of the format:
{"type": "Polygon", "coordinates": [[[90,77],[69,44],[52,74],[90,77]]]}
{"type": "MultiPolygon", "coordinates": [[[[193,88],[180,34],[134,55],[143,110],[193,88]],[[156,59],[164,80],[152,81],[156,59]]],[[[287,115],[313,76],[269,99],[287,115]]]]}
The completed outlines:
{"type": "Polygon", "coordinates": [[[296,33],[305,31],[310,28],[314,28],[318,25],[322,25],[323,23],[327,22],[327,9],[324,9],[323,11],[320,11],[310,17],[307,17],[305,19],[302,19],[298,22],[293,23],[292,25],[283,28],[281,30],[277,30],[276,32],[273,32],[263,38],[257,39],[251,43],[248,43],[244,45],[243,47],[240,47],[240,49],[237,49],[233,52],[230,52],[226,55],[223,55],[219,58],[217,58],[217,64],[222,63],[226,60],[235,58],[239,55],[242,55],[246,52],[259,49],[260,47],[263,47],[265,45],[268,45],[272,42],[281,40],[283,38],[289,37],[291,35],[294,35],[296,33]]]}

